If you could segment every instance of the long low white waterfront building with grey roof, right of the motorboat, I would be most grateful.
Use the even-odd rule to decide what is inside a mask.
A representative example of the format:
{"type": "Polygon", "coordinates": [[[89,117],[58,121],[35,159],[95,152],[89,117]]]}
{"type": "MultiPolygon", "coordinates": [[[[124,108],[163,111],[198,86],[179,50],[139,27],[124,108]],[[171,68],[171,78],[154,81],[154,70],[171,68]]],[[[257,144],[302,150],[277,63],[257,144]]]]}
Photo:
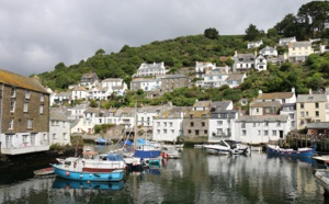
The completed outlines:
{"type": "Polygon", "coordinates": [[[285,139],[291,131],[288,115],[247,115],[237,118],[236,139],[248,144],[266,144],[285,139]]]}

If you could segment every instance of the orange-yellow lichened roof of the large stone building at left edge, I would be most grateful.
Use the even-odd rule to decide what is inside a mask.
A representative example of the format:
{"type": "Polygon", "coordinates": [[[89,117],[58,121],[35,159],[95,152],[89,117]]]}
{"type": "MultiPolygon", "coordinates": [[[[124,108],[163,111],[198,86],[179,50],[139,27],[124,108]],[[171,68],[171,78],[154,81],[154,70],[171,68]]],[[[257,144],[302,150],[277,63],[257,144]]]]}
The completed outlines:
{"type": "Polygon", "coordinates": [[[46,91],[46,89],[37,81],[37,79],[24,77],[24,76],[13,73],[13,72],[10,72],[7,70],[1,70],[1,69],[0,69],[0,83],[5,83],[9,86],[49,94],[46,91]]]}

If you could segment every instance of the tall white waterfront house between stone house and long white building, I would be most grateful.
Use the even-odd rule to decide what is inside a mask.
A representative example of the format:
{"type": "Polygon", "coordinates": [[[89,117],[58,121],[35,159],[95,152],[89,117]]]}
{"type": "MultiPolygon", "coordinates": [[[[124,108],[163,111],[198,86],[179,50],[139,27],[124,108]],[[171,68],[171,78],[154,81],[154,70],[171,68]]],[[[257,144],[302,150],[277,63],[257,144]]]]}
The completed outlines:
{"type": "Polygon", "coordinates": [[[236,139],[235,121],[238,118],[238,111],[232,107],[231,101],[213,102],[208,122],[208,141],[236,139]]]}

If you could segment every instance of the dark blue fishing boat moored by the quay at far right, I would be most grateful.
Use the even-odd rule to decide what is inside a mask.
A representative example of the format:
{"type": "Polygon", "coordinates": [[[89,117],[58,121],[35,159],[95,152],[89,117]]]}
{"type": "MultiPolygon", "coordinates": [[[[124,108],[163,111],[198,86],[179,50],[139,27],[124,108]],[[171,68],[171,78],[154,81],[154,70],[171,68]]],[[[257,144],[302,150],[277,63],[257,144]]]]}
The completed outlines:
{"type": "Polygon", "coordinates": [[[290,157],[313,157],[313,155],[316,154],[316,145],[313,148],[304,147],[297,149],[285,149],[275,145],[266,145],[266,152],[290,157]]]}

